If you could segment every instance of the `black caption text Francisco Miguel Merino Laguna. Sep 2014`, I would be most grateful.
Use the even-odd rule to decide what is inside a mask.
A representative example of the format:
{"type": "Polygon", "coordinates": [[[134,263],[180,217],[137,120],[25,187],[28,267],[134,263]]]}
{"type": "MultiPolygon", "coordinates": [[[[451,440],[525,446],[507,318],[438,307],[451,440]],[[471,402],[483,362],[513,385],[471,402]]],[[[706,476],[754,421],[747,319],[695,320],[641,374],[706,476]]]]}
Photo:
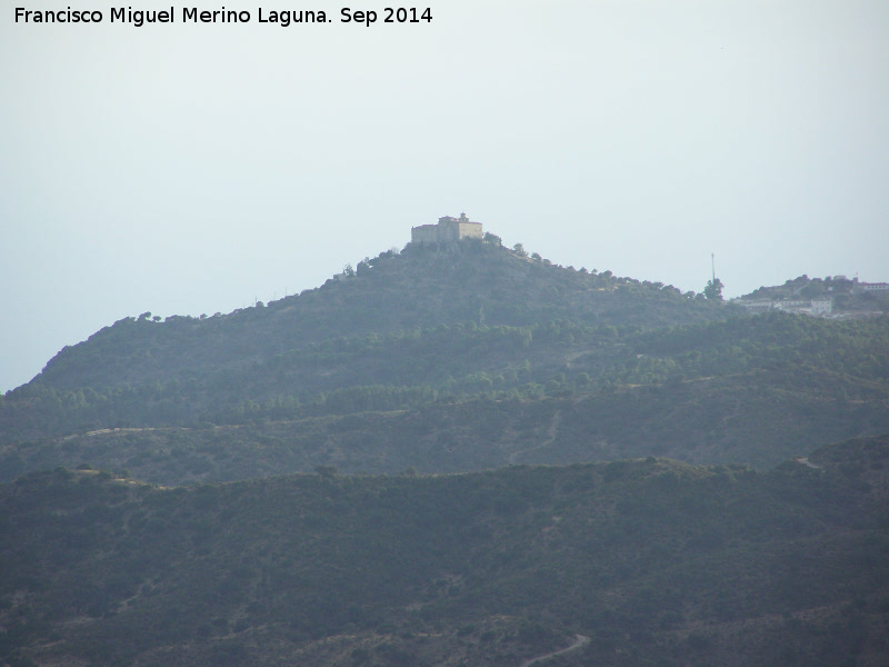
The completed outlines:
{"type": "MultiPolygon", "coordinates": [[[[117,7],[109,10],[111,23],[130,23],[137,28],[146,23],[176,23],[176,8],[170,9],[133,9],[132,7],[117,7]]],[[[216,10],[202,10],[197,7],[181,8],[182,23],[249,23],[252,14],[242,9],[233,10],[224,7],[216,10]]],[[[23,7],[16,8],[17,23],[101,23],[104,14],[99,10],[60,9],[30,10],[23,7]]],[[[432,21],[432,11],[418,7],[384,7],[382,10],[352,10],[343,7],[339,12],[340,23],[358,23],[370,26],[380,21],[382,23],[429,23],[432,21]]],[[[266,10],[257,9],[258,23],[277,23],[282,28],[291,23],[332,23],[333,18],[328,18],[327,12],[316,10],[266,10]]]]}

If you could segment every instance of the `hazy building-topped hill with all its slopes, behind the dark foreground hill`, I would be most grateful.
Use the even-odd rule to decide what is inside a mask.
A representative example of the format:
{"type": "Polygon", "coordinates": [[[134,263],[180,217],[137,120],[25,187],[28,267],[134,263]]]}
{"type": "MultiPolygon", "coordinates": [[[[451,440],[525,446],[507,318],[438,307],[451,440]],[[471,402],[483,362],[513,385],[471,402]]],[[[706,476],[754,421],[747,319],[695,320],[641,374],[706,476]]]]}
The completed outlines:
{"type": "Polygon", "coordinates": [[[146,313],[62,350],[0,397],[0,480],[81,464],[181,485],[649,455],[767,469],[886,431],[886,317],[748,316],[496,243],[409,246],[269,306],[146,313]]]}

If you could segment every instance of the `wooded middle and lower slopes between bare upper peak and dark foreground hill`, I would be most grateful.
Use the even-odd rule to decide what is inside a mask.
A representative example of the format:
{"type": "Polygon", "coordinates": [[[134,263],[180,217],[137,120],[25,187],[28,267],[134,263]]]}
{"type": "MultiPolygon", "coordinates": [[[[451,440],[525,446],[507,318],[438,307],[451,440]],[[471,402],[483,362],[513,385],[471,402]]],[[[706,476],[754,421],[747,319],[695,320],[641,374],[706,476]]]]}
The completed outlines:
{"type": "Polygon", "coordinates": [[[0,481],[81,464],[164,485],[649,455],[765,469],[887,431],[887,318],[452,326],[329,341],[202,382],[23,387],[0,397],[0,481]]]}

